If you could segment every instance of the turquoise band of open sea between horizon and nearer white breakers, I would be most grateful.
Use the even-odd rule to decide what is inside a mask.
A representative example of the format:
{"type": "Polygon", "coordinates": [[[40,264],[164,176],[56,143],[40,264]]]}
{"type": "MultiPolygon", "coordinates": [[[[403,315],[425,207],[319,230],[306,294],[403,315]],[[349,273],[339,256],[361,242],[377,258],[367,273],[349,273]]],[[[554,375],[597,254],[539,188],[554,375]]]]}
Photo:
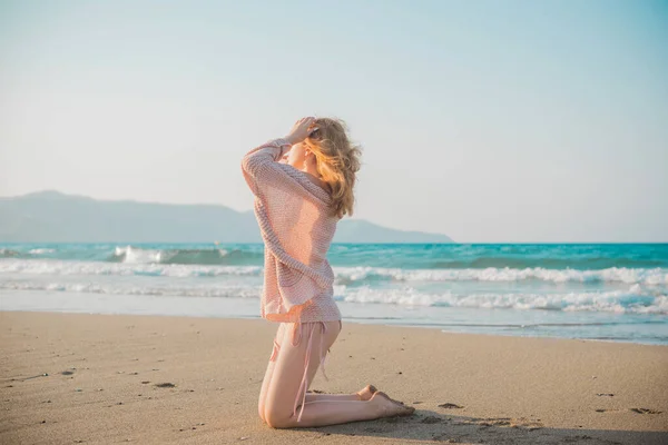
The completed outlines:
{"type": "MultiPolygon", "coordinates": [[[[128,264],[259,266],[262,244],[8,244],[0,258],[51,258],[128,264]]],[[[668,268],[668,245],[340,245],[340,267],[415,270],[668,268]]]]}

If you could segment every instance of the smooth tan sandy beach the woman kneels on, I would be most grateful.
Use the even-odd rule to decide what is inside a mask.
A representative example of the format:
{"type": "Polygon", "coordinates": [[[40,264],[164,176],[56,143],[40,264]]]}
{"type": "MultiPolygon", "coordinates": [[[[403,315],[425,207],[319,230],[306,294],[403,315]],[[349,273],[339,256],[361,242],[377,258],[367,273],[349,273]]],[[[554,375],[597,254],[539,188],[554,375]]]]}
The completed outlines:
{"type": "Polygon", "coordinates": [[[264,320],[0,313],[2,444],[666,444],[668,346],[344,323],[312,389],[415,415],[277,431],[264,320]]]}

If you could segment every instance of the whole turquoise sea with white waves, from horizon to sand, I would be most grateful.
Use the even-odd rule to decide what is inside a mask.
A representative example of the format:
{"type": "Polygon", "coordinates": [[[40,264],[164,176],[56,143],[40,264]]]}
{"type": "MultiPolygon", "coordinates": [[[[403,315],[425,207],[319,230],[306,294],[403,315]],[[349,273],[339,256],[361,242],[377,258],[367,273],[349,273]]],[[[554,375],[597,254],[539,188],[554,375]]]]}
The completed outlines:
{"type": "MultiPolygon", "coordinates": [[[[258,318],[262,244],[0,244],[0,309],[258,318]]],[[[334,244],[344,323],[668,345],[668,244],[334,244]]]]}

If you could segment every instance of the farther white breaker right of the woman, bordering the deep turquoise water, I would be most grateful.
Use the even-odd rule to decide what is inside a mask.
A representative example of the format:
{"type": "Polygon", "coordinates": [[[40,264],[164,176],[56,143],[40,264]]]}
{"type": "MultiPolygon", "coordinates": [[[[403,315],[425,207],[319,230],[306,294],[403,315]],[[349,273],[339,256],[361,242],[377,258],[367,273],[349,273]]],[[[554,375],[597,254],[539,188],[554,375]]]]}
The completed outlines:
{"type": "Polygon", "coordinates": [[[612,267],[602,270],[494,268],[487,269],[391,269],[379,267],[338,267],[334,269],[338,284],[356,285],[373,281],[522,281],[550,283],[625,283],[646,285],[668,284],[668,269],[629,269],[612,267]]]}

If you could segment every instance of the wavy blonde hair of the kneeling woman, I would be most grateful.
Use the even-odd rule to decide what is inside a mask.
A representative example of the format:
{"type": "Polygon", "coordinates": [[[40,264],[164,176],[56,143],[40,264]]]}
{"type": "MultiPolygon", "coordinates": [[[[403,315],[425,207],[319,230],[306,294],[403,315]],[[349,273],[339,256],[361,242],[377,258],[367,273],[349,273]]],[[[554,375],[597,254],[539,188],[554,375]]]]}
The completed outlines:
{"type": "Polygon", "coordinates": [[[330,186],[332,205],[336,215],[343,218],[353,215],[355,204],[355,174],[360,170],[360,146],[352,144],[347,126],[341,119],[318,118],[306,142],[317,161],[317,172],[330,186]]]}

